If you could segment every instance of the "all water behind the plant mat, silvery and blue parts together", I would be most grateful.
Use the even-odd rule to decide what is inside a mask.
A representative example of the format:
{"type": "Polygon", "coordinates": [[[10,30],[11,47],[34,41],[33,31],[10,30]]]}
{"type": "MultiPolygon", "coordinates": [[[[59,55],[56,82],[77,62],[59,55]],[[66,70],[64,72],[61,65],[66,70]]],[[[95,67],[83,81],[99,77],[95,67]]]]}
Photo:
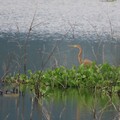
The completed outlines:
{"type": "Polygon", "coordinates": [[[81,44],[83,58],[97,64],[120,65],[119,0],[1,0],[0,3],[1,75],[11,67],[9,63],[16,54],[17,63],[12,62],[12,66],[23,63],[24,42],[19,42],[26,40],[32,20],[27,44],[28,69],[79,65],[78,50],[69,48],[69,44],[81,44]]]}

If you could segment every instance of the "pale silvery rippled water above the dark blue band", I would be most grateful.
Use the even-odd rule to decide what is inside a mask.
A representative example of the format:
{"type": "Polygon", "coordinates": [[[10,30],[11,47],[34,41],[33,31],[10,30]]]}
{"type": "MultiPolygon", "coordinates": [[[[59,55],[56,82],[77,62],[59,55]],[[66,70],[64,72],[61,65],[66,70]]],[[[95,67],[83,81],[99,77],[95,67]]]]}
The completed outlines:
{"type": "Polygon", "coordinates": [[[35,15],[35,32],[119,36],[120,1],[111,0],[0,0],[0,31],[26,32],[35,15]],[[36,12],[35,12],[36,11],[36,12]],[[112,28],[112,31],[111,31],[112,28]]]}

